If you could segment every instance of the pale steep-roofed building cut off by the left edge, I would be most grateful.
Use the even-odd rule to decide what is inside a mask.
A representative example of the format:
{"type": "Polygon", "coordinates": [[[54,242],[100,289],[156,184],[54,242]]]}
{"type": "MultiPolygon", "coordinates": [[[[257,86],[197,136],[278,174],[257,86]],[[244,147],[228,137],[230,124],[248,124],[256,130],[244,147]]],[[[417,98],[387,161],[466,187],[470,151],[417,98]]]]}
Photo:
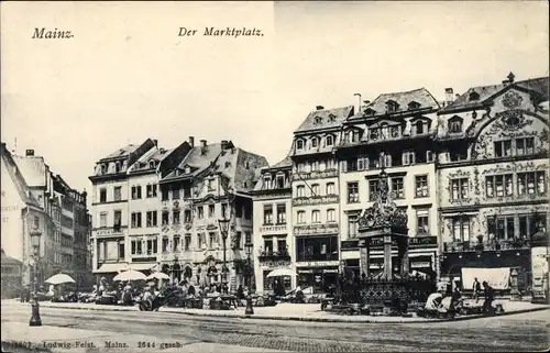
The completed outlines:
{"type": "MultiPolygon", "coordinates": [[[[19,279],[11,285],[28,285],[34,277],[30,266],[30,260],[33,256],[30,234],[37,230],[42,233],[41,246],[38,253],[38,273],[37,279],[42,282],[48,275],[48,265],[52,264],[55,247],[52,246],[52,229],[48,213],[42,207],[42,202],[34,196],[35,192],[26,184],[25,178],[13,155],[7,148],[6,143],[1,144],[1,177],[2,177],[2,236],[1,247],[7,256],[19,261],[22,266],[19,273],[19,279]]],[[[8,272],[8,266],[3,273],[8,272]]],[[[13,275],[10,269],[9,275],[13,275]]],[[[7,274],[7,275],[8,275],[7,274]]],[[[4,288],[2,287],[2,291],[4,288]]],[[[15,289],[15,288],[11,288],[15,289]]]]}

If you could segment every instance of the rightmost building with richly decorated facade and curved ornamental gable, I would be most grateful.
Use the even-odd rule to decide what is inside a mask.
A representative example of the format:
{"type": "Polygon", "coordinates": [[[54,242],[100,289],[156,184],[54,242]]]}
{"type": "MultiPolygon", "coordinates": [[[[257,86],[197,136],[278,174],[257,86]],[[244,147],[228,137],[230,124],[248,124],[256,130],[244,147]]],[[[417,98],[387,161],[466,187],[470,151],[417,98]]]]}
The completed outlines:
{"type": "Polygon", "coordinates": [[[516,267],[531,285],[534,238],[548,236],[548,86],[510,73],[439,111],[442,278],[470,288],[463,267],[516,267]]]}

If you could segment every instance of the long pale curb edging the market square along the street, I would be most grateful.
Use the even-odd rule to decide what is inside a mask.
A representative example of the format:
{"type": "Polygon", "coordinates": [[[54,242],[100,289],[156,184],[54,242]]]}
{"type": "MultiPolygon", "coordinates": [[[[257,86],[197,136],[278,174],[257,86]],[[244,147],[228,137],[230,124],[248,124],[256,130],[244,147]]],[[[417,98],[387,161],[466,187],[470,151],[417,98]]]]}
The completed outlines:
{"type": "MultiPolygon", "coordinates": [[[[91,310],[91,311],[139,311],[139,310],[127,310],[119,308],[82,308],[82,307],[57,307],[57,306],[44,306],[41,305],[42,308],[54,308],[54,309],[70,309],[70,310],[91,310]]],[[[505,311],[496,316],[483,316],[483,315],[472,315],[466,317],[457,317],[454,319],[422,319],[422,320],[406,320],[406,319],[395,319],[389,321],[378,321],[373,319],[364,319],[364,320],[353,320],[351,318],[345,317],[333,317],[333,318],[311,318],[311,317],[282,317],[282,316],[267,316],[267,315],[229,315],[229,313],[211,313],[211,312],[189,312],[189,311],[165,311],[168,313],[176,315],[186,315],[186,316],[195,316],[195,317],[210,317],[210,318],[235,318],[235,319],[252,319],[252,320],[279,320],[279,321],[309,321],[309,322],[356,322],[356,323],[429,323],[429,322],[442,322],[442,321],[468,321],[483,318],[495,318],[495,317],[504,317],[517,313],[526,313],[541,310],[549,310],[550,307],[541,307],[541,308],[530,308],[530,309],[521,309],[515,311],[505,311]]],[[[162,312],[162,311],[160,311],[162,312]]]]}

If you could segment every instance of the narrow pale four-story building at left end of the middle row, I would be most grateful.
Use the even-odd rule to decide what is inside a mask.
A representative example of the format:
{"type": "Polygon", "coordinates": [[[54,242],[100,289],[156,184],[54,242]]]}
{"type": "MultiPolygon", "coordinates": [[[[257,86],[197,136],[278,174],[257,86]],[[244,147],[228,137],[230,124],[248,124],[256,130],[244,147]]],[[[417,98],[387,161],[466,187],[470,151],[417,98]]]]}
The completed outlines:
{"type": "Polygon", "coordinates": [[[130,262],[130,253],[125,251],[131,222],[128,169],[154,147],[155,142],[147,139],[140,145],[119,148],[99,159],[89,177],[92,184],[92,271],[98,277],[113,277],[130,262]]]}

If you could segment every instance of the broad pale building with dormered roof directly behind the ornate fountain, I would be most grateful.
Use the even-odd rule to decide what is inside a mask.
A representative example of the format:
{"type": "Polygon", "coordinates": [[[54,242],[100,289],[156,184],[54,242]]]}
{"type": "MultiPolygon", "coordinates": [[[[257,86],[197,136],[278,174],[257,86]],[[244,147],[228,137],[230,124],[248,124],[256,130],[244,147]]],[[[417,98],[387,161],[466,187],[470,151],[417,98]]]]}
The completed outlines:
{"type": "MultiPolygon", "coordinates": [[[[356,275],[363,271],[369,276],[382,269],[383,244],[376,242],[369,247],[369,267],[360,269],[364,260],[358,245],[358,218],[373,206],[380,169],[385,167],[392,199],[407,214],[410,267],[433,275],[438,269],[438,206],[432,136],[440,106],[420,88],[384,93],[358,107],[361,109],[342,122],[336,152],[340,164],[342,260],[356,275]]],[[[396,257],[397,244],[393,249],[396,257]]]]}

